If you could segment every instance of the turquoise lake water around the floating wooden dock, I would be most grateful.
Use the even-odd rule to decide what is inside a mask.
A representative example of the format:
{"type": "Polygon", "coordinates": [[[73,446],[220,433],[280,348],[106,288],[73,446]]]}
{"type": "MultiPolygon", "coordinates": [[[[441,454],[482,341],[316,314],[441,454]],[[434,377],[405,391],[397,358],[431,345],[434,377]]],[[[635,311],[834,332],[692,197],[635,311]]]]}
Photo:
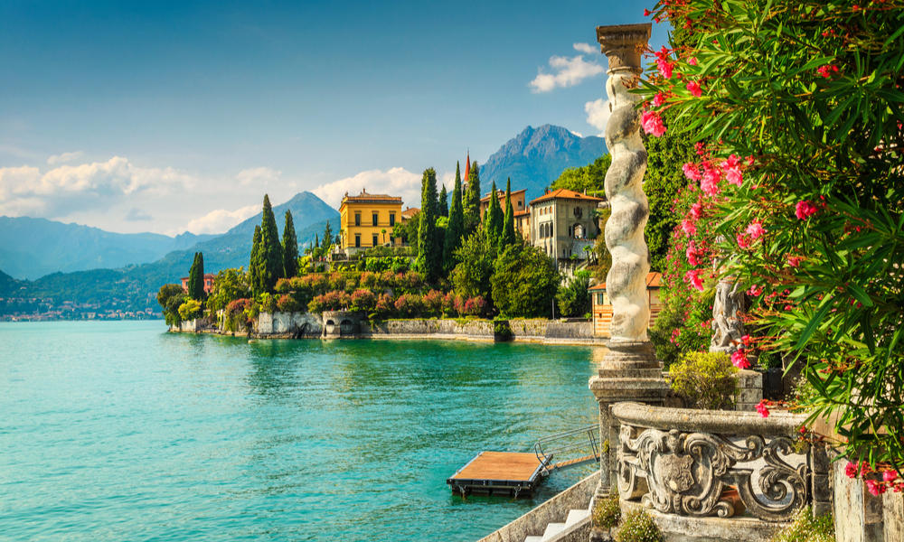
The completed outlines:
{"type": "Polygon", "coordinates": [[[476,540],[590,472],[445,483],[593,423],[591,348],[163,327],[0,323],[0,539],[476,540]]]}

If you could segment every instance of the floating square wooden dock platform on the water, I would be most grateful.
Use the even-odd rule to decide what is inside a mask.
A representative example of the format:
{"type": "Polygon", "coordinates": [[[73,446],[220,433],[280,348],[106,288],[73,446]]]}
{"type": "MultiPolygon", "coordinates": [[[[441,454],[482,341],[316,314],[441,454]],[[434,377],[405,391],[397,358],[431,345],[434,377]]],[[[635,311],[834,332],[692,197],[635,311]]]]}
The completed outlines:
{"type": "Polygon", "coordinates": [[[481,452],[446,483],[462,496],[468,493],[530,496],[547,465],[534,453],[481,452]]]}

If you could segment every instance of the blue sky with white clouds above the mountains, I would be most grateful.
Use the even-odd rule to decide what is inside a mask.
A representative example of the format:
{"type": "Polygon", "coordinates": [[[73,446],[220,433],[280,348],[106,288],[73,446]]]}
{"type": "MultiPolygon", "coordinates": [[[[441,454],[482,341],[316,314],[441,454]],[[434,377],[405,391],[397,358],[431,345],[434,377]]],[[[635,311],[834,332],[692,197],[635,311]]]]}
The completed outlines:
{"type": "Polygon", "coordinates": [[[264,193],[419,207],[425,169],[450,185],[526,126],[600,134],[595,29],[653,4],[5,0],[0,215],[174,236],[264,193]]]}

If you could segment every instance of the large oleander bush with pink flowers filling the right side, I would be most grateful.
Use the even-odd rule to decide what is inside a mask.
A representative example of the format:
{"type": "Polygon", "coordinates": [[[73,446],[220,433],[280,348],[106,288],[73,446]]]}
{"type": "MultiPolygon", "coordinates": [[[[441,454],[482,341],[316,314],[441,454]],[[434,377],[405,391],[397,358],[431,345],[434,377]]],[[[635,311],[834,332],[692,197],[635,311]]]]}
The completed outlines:
{"type": "MultiPolygon", "coordinates": [[[[643,90],[662,91],[659,107],[680,111],[703,144],[688,173],[719,223],[720,273],[750,288],[751,317],[770,326],[755,346],[794,352],[817,392],[801,406],[832,416],[846,453],[899,467],[902,7],[661,3],[654,16],[689,26],[695,41],[661,51],[663,76],[643,90]]],[[[645,114],[657,132],[658,116],[645,114]]]]}

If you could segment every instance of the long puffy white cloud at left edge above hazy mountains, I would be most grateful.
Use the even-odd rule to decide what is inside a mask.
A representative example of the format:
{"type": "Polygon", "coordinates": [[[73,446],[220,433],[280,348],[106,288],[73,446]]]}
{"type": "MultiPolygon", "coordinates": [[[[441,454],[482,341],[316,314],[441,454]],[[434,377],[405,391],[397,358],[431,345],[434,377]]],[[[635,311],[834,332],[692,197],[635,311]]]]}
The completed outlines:
{"type": "Polygon", "coordinates": [[[193,187],[193,176],[167,168],[143,168],[114,156],[108,162],[38,168],[0,168],[0,215],[58,218],[81,210],[108,210],[130,194],[165,195],[193,187]]]}

